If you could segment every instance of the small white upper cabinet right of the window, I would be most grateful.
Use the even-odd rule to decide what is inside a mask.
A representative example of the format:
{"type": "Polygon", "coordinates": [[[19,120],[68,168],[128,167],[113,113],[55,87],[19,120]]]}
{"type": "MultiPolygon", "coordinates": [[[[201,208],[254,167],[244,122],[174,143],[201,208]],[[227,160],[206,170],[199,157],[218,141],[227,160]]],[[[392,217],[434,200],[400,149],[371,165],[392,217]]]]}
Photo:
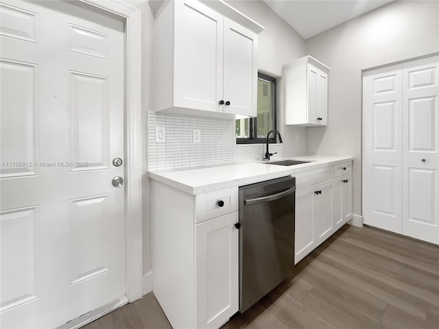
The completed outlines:
{"type": "Polygon", "coordinates": [[[311,56],[283,66],[286,125],[328,124],[329,67],[311,56]]]}

